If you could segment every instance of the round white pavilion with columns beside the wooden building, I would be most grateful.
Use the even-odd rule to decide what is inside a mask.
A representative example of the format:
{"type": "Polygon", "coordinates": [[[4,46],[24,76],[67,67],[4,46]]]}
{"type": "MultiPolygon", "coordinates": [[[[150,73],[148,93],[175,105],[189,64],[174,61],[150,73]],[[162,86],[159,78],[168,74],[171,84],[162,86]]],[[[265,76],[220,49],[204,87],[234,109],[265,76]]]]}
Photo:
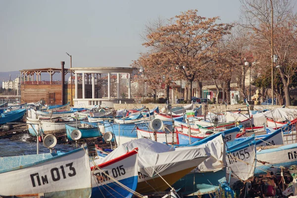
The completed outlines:
{"type": "MultiPolygon", "coordinates": [[[[134,99],[131,98],[131,74],[133,73],[133,68],[129,67],[79,67],[79,68],[70,68],[75,76],[75,96],[74,96],[74,106],[75,107],[88,107],[94,105],[102,106],[113,106],[113,103],[133,103],[134,99]],[[96,87],[98,87],[98,75],[107,74],[107,97],[99,97],[96,87]],[[112,74],[117,75],[116,85],[117,93],[116,98],[111,98],[111,85],[110,85],[110,76],[112,74]],[[126,74],[128,76],[128,98],[121,99],[120,97],[120,79],[121,75],[126,74]],[[97,76],[95,82],[95,75],[97,76]],[[81,85],[81,89],[79,88],[81,85]],[[91,87],[92,85],[92,87],[91,87]],[[91,94],[88,95],[86,91],[86,86],[89,86],[91,89],[91,94]],[[96,95],[97,93],[97,95],[96,95]]],[[[99,88],[102,89],[102,88],[99,88]]]]}

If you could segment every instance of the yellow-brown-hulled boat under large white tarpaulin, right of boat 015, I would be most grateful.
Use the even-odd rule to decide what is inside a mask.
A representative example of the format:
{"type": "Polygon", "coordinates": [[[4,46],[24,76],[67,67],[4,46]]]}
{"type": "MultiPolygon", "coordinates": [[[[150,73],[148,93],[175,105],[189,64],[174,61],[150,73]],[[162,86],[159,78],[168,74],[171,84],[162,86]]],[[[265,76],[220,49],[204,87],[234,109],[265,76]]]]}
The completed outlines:
{"type": "Polygon", "coordinates": [[[136,192],[141,194],[165,191],[209,157],[205,147],[172,148],[142,138],[122,144],[98,160],[104,163],[134,148],[138,148],[139,166],[136,192]]]}

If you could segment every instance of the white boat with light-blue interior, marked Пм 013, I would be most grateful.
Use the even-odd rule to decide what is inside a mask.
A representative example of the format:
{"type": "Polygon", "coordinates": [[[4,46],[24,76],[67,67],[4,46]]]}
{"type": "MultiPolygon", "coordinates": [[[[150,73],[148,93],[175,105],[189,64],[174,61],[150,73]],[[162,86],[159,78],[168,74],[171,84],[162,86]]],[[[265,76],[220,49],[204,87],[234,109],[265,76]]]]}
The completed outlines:
{"type": "Polygon", "coordinates": [[[88,148],[0,158],[0,196],[73,198],[92,192],[88,148]],[[12,185],[13,184],[13,185],[12,185]]]}

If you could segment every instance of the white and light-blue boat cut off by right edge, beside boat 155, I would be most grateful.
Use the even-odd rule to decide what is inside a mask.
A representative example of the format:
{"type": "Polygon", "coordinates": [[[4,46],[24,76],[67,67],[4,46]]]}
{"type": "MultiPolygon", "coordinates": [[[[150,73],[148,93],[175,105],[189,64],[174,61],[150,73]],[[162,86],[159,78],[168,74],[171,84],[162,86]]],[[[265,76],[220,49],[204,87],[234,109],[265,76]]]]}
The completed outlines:
{"type": "Polygon", "coordinates": [[[277,173],[281,171],[280,167],[291,165],[297,165],[297,143],[257,147],[255,174],[277,173]]]}

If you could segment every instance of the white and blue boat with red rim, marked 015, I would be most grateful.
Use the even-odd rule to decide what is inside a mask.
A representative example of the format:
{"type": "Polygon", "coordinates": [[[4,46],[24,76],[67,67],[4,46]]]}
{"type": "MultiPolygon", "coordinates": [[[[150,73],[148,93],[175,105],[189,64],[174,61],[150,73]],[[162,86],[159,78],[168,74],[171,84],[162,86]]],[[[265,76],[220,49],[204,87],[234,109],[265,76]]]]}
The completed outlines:
{"type": "Polygon", "coordinates": [[[91,166],[93,176],[92,197],[132,198],[134,195],[132,192],[136,190],[138,181],[138,154],[136,150],[101,164],[96,164],[96,160],[92,161],[91,166]],[[124,185],[129,191],[121,185],[124,185]]]}

